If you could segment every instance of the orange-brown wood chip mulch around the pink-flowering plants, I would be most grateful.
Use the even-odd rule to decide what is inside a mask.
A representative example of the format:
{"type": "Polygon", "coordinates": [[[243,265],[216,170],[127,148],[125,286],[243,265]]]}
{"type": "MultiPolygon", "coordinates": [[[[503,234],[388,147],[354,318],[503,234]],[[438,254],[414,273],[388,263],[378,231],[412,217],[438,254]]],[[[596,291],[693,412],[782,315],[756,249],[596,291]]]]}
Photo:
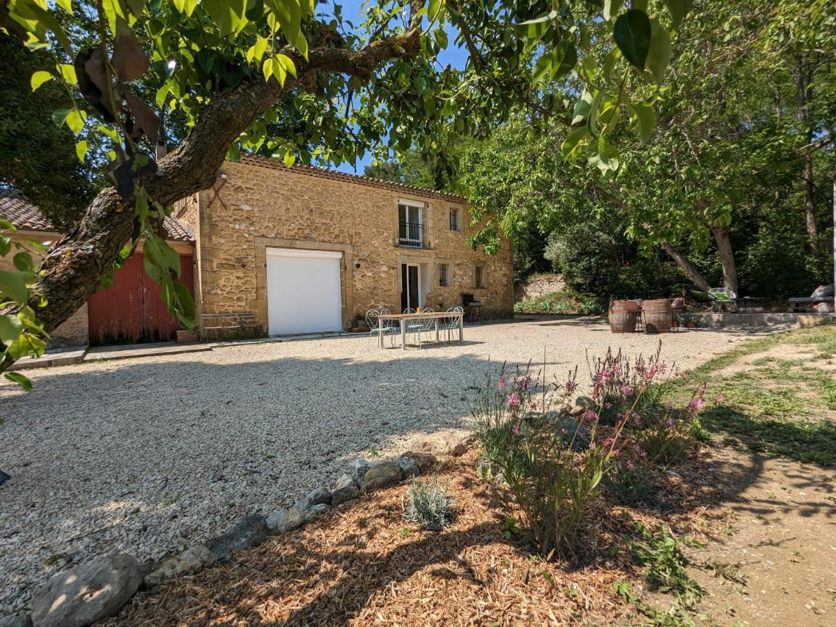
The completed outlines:
{"type": "Polygon", "coordinates": [[[407,485],[340,506],[230,562],[137,594],[110,625],[518,625],[635,622],[614,592],[641,586],[634,523],[696,539],[725,526],[719,486],[696,456],[666,475],[653,508],[601,499],[588,563],[570,567],[505,538],[507,510],[474,471],[476,452],[440,472],[456,519],[428,532],[404,519],[407,485]]]}

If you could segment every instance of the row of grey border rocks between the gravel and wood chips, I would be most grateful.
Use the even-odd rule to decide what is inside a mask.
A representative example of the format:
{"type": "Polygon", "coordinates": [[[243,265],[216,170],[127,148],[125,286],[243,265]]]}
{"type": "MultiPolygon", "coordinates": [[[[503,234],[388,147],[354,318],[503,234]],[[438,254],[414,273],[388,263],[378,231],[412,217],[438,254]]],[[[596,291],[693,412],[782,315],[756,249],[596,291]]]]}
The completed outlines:
{"type": "Polygon", "coordinates": [[[145,568],[126,553],[94,558],[53,575],[33,594],[31,615],[7,616],[0,619],[0,627],[85,627],[93,624],[116,614],[140,588],[153,591],[169,579],[225,562],[235,553],[263,543],[271,535],[312,523],[361,494],[436,471],[441,467],[441,460],[463,455],[470,443],[472,438],[463,440],[452,431],[440,431],[419,437],[410,451],[391,459],[367,461],[358,457],[351,461],[333,489],[320,486],[292,507],[276,510],[267,517],[257,514],[243,517],[222,536],[145,568]]]}

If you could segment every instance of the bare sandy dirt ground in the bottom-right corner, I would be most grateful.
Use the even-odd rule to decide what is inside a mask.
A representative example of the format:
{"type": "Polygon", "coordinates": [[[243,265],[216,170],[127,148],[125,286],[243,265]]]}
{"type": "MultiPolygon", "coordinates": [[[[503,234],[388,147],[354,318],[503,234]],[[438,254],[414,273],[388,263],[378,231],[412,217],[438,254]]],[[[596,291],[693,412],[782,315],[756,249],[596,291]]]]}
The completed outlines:
{"type": "Polygon", "coordinates": [[[704,624],[836,624],[836,472],[730,447],[726,535],[691,551],[704,624]],[[700,566],[701,568],[695,568],[700,566]]]}

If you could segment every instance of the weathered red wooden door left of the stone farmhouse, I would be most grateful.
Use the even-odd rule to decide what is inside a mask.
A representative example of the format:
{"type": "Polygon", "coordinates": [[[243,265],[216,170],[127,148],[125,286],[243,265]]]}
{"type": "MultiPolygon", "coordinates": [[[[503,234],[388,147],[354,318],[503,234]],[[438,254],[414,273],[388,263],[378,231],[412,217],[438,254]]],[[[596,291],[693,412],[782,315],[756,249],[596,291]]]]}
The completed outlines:
{"type": "MultiPolygon", "coordinates": [[[[168,313],[160,286],[145,273],[143,254],[135,252],[114,273],[113,286],[99,289],[88,302],[91,346],[166,342],[180,323],[168,313]]],[[[180,256],[181,281],[194,294],[191,255],[180,256]]]]}

